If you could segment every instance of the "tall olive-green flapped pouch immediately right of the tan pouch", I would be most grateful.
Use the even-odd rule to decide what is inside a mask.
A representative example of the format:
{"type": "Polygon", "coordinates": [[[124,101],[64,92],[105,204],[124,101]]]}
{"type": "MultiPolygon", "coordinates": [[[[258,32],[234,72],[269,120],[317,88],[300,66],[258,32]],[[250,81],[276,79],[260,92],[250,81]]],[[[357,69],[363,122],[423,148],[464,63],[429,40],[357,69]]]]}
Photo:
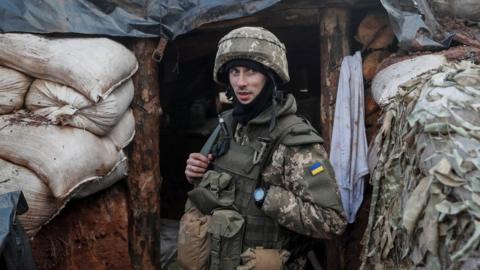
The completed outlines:
{"type": "Polygon", "coordinates": [[[210,269],[231,270],[240,265],[244,223],[235,210],[216,209],[208,229],[211,234],[210,269]]]}

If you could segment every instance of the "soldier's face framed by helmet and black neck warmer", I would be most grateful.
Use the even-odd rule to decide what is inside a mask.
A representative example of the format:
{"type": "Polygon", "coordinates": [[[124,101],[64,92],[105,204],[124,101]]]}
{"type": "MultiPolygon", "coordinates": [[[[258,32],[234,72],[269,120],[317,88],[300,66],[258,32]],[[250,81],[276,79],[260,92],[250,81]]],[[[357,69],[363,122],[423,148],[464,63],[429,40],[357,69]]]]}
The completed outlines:
{"type": "Polygon", "coordinates": [[[267,78],[262,73],[241,66],[231,68],[228,77],[237,100],[242,104],[252,102],[267,82],[267,78]]]}

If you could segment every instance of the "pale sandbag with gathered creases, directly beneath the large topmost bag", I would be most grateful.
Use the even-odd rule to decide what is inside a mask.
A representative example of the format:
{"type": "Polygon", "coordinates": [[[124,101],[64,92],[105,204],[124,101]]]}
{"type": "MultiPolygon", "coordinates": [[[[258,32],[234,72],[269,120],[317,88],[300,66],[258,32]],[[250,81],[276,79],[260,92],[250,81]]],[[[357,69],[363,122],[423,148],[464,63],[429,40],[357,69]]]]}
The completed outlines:
{"type": "Polygon", "coordinates": [[[120,121],[133,94],[133,82],[127,80],[105,99],[94,103],[68,86],[35,80],[25,98],[25,106],[54,124],[86,129],[102,136],[120,121]]]}

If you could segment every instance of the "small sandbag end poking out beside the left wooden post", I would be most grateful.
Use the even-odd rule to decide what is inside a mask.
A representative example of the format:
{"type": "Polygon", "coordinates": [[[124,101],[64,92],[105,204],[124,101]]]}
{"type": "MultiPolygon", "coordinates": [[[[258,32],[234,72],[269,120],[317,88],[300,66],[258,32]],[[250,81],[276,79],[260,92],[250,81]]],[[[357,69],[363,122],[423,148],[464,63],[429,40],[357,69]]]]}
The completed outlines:
{"type": "Polygon", "coordinates": [[[135,136],[135,118],[130,109],[122,116],[118,124],[108,133],[107,138],[112,141],[118,150],[125,148],[135,136]]]}

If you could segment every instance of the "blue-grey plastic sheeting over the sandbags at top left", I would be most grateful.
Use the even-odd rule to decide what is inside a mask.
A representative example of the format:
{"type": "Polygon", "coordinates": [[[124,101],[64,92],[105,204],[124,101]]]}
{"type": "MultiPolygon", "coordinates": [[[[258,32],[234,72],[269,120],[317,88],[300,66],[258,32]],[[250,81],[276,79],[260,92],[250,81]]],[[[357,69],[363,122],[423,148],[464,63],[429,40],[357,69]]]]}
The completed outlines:
{"type": "Polygon", "coordinates": [[[4,0],[0,1],[0,32],[174,39],[202,24],[248,16],[279,1],[4,0]]]}

